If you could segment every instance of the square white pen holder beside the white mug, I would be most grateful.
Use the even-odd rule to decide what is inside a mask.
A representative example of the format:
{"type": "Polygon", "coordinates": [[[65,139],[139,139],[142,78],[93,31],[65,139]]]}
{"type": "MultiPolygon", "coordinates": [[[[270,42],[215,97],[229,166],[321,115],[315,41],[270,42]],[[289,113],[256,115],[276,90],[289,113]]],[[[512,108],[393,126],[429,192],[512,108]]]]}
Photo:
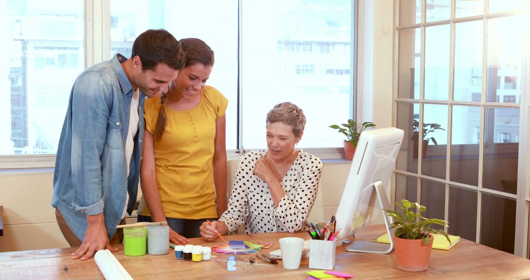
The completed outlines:
{"type": "Polygon", "coordinates": [[[335,267],[335,240],[311,239],[309,268],[331,270],[335,267]]]}

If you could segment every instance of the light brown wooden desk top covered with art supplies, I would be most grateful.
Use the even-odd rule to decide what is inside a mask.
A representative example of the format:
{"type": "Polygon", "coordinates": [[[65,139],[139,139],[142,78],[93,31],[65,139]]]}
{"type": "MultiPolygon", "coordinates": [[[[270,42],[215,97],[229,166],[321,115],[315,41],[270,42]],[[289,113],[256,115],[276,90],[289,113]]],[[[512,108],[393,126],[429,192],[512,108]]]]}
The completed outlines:
{"type": "MultiPolygon", "coordinates": [[[[380,225],[370,226],[359,233],[363,240],[375,239],[382,234],[380,225]]],[[[274,245],[263,252],[279,249],[278,239],[297,236],[307,239],[307,232],[262,233],[230,235],[227,240],[272,241],[274,245]]],[[[219,241],[206,242],[192,239],[192,244],[214,246],[219,241]]],[[[281,261],[275,266],[228,272],[213,261],[189,262],[175,260],[168,255],[128,257],[123,255],[123,245],[114,256],[135,279],[307,279],[305,272],[309,260],[302,260],[297,270],[286,270],[281,261]]],[[[0,253],[0,279],[102,279],[94,259],[72,260],[73,248],[46,249],[0,253]]],[[[213,256],[216,254],[212,253],[213,256]]],[[[249,256],[249,255],[243,255],[249,256]]],[[[354,274],[354,279],[415,278],[423,279],[515,279],[530,277],[530,260],[491,249],[471,241],[462,240],[449,251],[432,250],[430,267],[425,272],[403,272],[396,268],[394,252],[387,255],[354,253],[337,248],[335,270],[354,274]]]]}

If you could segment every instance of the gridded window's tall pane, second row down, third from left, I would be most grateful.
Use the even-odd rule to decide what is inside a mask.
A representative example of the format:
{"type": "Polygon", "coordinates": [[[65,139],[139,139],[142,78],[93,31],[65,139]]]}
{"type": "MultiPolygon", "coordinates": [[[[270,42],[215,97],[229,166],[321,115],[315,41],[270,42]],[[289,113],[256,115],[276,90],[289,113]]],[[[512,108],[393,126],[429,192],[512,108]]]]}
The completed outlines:
{"type": "Polygon", "coordinates": [[[455,24],[454,100],[480,102],[482,21],[455,24]]]}

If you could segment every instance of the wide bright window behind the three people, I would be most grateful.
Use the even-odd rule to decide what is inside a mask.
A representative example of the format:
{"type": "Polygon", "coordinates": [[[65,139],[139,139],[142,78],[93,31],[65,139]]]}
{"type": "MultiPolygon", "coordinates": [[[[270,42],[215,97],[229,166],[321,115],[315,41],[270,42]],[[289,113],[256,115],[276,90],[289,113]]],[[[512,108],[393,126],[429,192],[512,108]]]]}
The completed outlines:
{"type": "Polygon", "coordinates": [[[108,20],[96,20],[102,30],[110,31],[110,42],[102,36],[103,46],[96,46],[95,40],[85,50],[91,34],[83,32],[89,22],[83,19],[83,1],[8,1],[7,63],[0,71],[10,85],[0,94],[8,120],[2,126],[0,156],[49,155],[47,167],[52,167],[70,89],[77,75],[93,64],[85,65],[87,56],[102,48],[100,60],[117,53],[129,57],[138,34],[151,28],[164,28],[178,39],[200,38],[214,50],[216,63],[208,84],[229,100],[228,150],[266,148],[266,113],[284,101],[297,104],[307,117],[298,147],[339,147],[342,137],[329,125],[353,116],[347,104],[354,91],[354,2],[103,1],[107,7],[88,7],[93,9],[89,14],[109,16],[104,11],[110,7],[108,20]],[[174,11],[201,11],[208,20],[174,11]]]}

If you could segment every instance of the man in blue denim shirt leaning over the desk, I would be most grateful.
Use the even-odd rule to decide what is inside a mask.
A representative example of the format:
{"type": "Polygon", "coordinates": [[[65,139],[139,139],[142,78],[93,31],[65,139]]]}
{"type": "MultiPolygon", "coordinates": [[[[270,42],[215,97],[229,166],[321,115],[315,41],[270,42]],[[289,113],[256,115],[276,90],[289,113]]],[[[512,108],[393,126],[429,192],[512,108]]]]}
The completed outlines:
{"type": "Polygon", "coordinates": [[[51,200],[61,232],[70,246],[79,246],[73,259],[118,250],[110,245],[121,242],[116,226],[126,210],[133,211],[138,193],[144,100],[166,92],[184,62],[180,43],[169,32],[147,30],[134,41],[131,58],[118,54],[77,77],[51,200]]]}

